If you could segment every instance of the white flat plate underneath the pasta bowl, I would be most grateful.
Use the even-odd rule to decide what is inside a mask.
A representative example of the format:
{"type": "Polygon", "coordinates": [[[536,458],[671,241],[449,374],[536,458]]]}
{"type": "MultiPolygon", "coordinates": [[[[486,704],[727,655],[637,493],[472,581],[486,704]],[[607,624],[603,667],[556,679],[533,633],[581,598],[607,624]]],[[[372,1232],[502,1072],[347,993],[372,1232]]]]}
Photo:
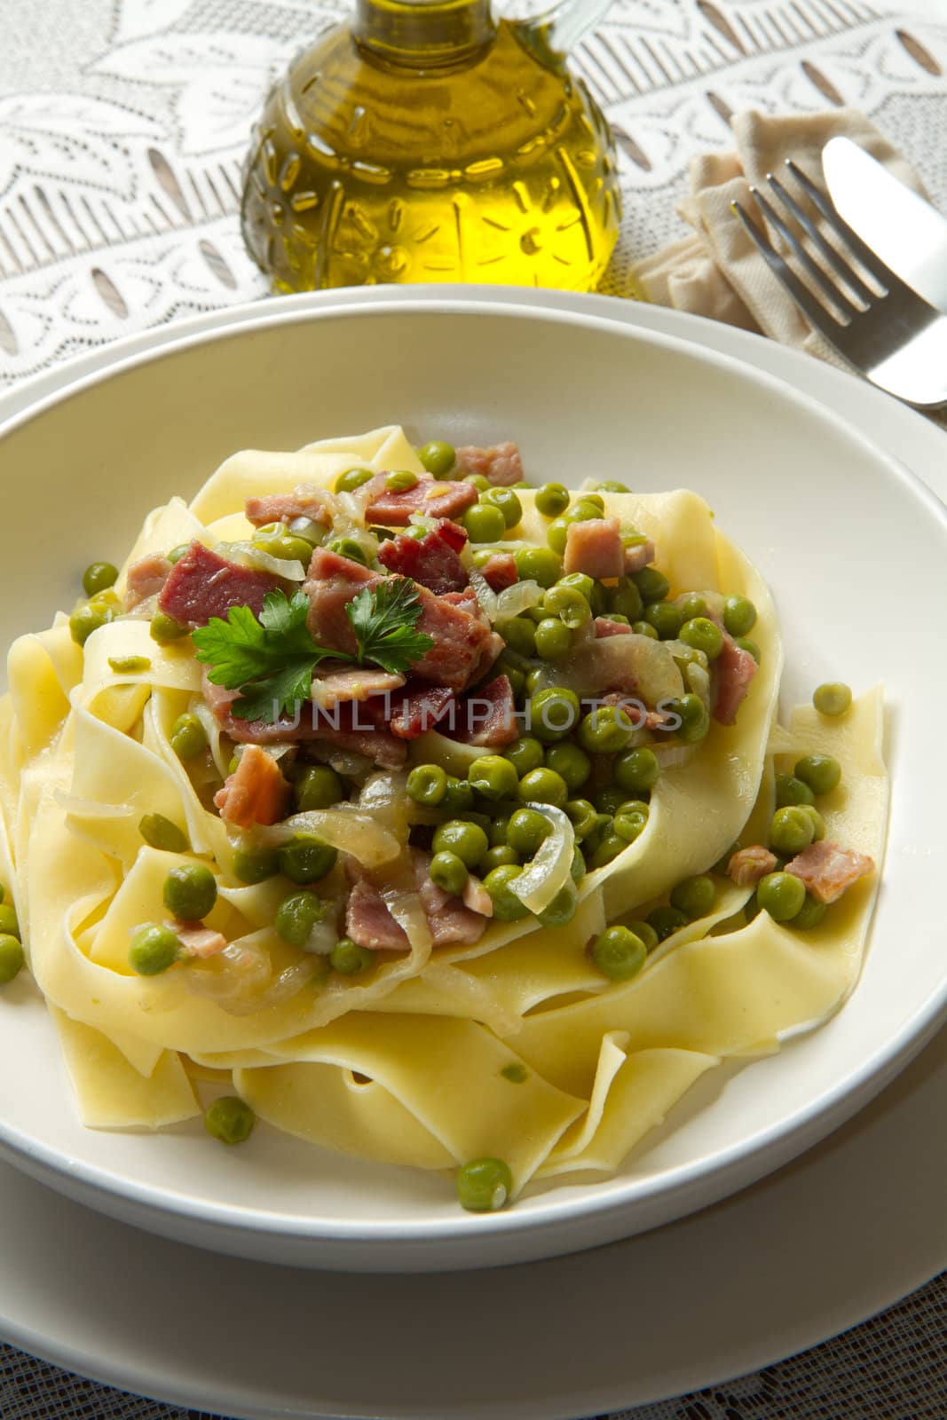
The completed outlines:
{"type": "MultiPolygon", "coordinates": [[[[823,385],[835,409],[880,425],[889,452],[947,493],[943,435],[867,386],[704,321],[616,314],[823,385]]],[[[947,1265],[944,1109],[941,1034],[856,1120],[750,1191],[584,1255],[459,1278],[369,1282],[234,1262],[0,1166],[0,1331],[85,1375],[253,1420],[554,1420],[640,1404],[809,1346],[947,1265]]]]}

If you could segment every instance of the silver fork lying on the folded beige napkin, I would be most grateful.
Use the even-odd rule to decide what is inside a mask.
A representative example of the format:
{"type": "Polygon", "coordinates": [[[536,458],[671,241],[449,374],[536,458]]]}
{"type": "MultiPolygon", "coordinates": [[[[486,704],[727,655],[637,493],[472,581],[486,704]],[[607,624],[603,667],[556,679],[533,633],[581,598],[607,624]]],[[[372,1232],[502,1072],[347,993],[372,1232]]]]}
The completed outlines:
{"type": "Polygon", "coordinates": [[[812,284],[828,304],[799,280],[787,258],[770,240],[741,203],[733,202],[734,214],[747,229],[770,270],[785,287],[809,324],[819,331],[839,355],[859,369],[879,389],[896,395],[919,409],[947,405],[947,317],[917,295],[839,216],[832,200],[822,193],[791,158],[787,168],[816,212],[838,237],[842,250],[831,246],[797,199],[767,173],[772,196],[795,219],[811,244],[821,254],[832,277],[809,256],[799,236],[771,202],[751,187],[765,220],[782,239],[812,284]],[[852,266],[862,268],[882,288],[873,291],[852,266]],[[845,290],[848,288],[848,290],[845,290]],[[839,314],[841,312],[841,318],[839,314]]]}

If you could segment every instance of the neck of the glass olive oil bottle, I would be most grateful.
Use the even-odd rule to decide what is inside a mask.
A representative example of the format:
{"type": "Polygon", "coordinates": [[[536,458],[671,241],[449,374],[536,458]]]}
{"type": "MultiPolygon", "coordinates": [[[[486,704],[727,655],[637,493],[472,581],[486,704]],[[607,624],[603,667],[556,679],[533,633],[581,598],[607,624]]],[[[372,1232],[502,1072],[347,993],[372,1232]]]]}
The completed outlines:
{"type": "Polygon", "coordinates": [[[490,0],[355,0],[356,43],[415,70],[467,60],[496,33],[490,0]]]}

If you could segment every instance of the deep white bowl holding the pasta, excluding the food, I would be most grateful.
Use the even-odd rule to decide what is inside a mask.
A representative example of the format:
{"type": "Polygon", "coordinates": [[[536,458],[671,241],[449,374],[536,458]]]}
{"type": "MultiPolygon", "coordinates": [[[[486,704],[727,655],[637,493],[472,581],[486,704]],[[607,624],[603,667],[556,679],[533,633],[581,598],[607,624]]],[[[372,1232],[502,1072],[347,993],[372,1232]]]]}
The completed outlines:
{"type": "Polygon", "coordinates": [[[944,1014],[947,832],[931,780],[944,761],[947,514],[814,402],[611,321],[606,307],[566,314],[476,293],[436,310],[383,294],[346,307],[332,294],[119,359],[0,432],[4,642],[70,605],[88,561],[121,555],[143,513],[233,450],[388,422],[419,439],[514,437],[534,479],[697,488],[777,595],[784,704],[828,677],[886,682],[890,839],[852,1000],[779,1055],[706,1076],[615,1179],[534,1187],[507,1213],[471,1217],[440,1177],[268,1129],[240,1150],[207,1149],[199,1125],[82,1129],[43,1005],[18,978],[0,1003],[0,1147],[115,1217],[270,1261],[410,1271],[551,1257],[680,1217],[784,1163],[880,1089],[944,1014]]]}

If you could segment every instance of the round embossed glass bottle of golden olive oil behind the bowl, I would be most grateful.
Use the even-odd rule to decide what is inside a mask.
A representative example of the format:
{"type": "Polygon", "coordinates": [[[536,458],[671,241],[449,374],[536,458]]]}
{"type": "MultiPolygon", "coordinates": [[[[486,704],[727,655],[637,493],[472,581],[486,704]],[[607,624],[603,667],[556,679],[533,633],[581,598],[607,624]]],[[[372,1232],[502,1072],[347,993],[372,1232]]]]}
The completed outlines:
{"type": "Polygon", "coordinates": [[[243,231],[277,291],[390,281],[592,290],[619,223],[608,124],[564,51],[602,0],[356,0],[271,91],[243,231]]]}

